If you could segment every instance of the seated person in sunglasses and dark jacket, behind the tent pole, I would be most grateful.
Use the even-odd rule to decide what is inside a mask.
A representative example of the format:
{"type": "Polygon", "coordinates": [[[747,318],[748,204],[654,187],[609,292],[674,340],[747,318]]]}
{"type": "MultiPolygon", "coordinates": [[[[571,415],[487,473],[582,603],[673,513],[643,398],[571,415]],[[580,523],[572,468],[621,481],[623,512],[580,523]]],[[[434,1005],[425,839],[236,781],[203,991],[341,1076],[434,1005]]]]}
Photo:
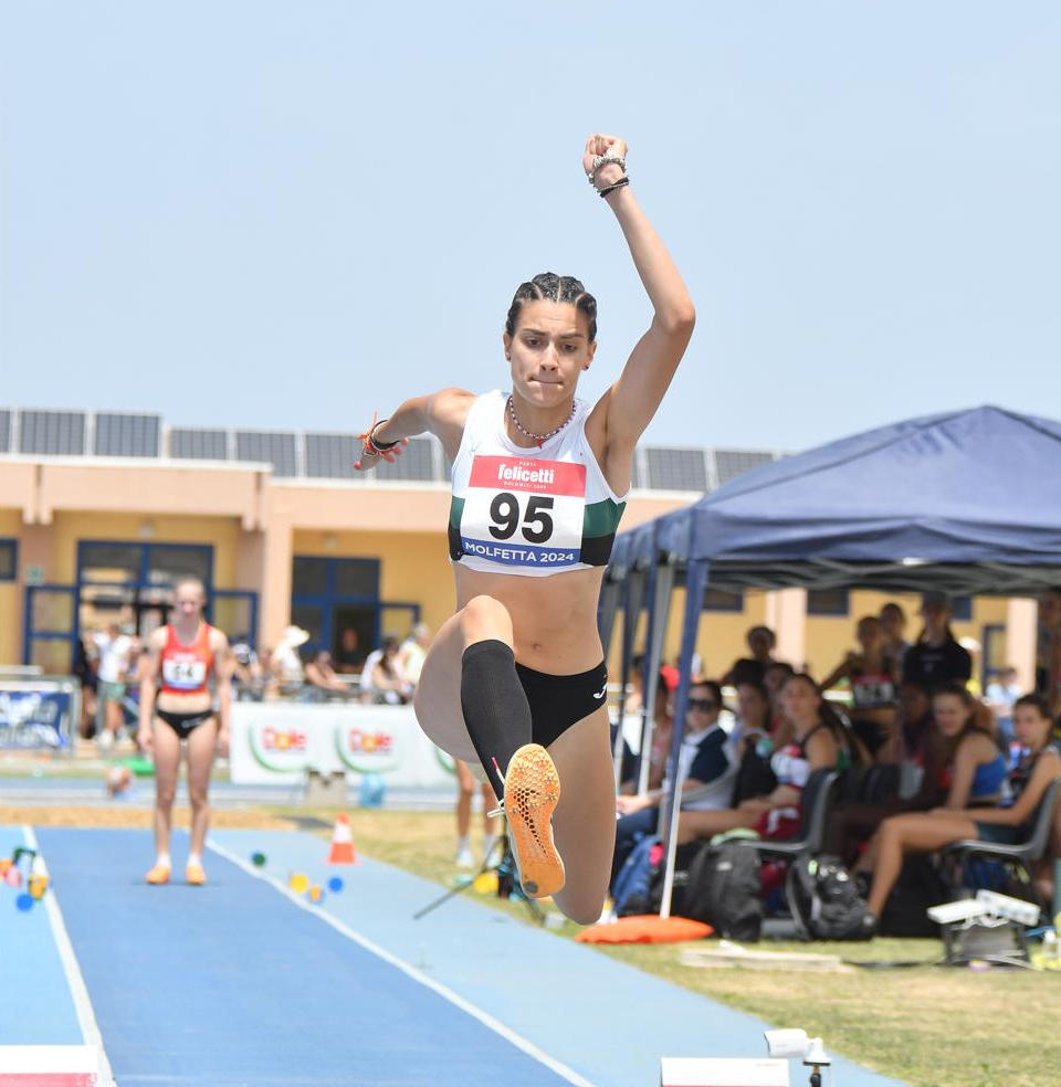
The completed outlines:
{"type": "MultiPolygon", "coordinates": [[[[729,802],[736,762],[731,753],[729,737],[718,724],[722,713],[722,688],[705,679],[689,688],[685,732],[679,756],[677,780],[684,792],[696,791],[691,805],[700,809],[722,808],[729,802]]],[[[662,789],[650,790],[641,796],[617,796],[616,852],[612,875],[622,868],[633,847],[642,838],[654,836],[660,819],[660,800],[669,793],[669,782],[662,789]]]]}

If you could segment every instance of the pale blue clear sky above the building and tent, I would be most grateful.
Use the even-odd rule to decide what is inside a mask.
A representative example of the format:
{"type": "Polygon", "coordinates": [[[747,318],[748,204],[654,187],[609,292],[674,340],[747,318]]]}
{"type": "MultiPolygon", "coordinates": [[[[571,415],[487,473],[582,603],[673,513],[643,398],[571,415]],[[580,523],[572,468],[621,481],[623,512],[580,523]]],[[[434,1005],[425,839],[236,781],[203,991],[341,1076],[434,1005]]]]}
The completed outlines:
{"type": "Polygon", "coordinates": [[[592,130],[698,310],[647,434],[801,448],[1061,415],[1061,4],[0,0],[0,404],[349,431],[504,387],[535,272],[650,310],[592,130]]]}

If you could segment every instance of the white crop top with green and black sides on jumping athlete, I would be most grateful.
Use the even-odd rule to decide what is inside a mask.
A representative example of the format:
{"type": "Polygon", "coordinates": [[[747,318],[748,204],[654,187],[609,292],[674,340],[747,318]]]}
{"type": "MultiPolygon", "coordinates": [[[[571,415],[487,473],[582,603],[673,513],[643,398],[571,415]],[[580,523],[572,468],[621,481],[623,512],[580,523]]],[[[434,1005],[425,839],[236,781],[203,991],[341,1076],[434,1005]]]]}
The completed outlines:
{"type": "Polygon", "coordinates": [[[546,578],[608,564],[626,506],[586,440],[588,405],[540,448],[505,433],[506,392],[477,397],[453,462],[450,559],[473,570],[546,578]]]}

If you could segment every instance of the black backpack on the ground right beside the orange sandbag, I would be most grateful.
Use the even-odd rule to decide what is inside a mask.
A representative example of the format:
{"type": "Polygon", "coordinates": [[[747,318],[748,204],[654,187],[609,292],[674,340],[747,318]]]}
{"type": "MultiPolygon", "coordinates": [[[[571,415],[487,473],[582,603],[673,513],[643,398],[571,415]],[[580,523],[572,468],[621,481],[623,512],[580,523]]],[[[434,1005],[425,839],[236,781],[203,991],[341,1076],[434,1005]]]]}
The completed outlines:
{"type": "Polygon", "coordinates": [[[705,921],[727,940],[752,943],[763,928],[763,887],[755,849],[703,843],[690,862],[682,917],[705,921]]]}

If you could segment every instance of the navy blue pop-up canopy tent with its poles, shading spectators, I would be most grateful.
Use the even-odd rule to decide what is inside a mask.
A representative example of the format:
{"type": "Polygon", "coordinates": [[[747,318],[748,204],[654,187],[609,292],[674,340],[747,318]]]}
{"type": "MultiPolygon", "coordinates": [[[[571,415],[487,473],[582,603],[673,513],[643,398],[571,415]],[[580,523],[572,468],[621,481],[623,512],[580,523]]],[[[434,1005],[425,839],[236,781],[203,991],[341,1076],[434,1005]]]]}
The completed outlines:
{"type": "MultiPolygon", "coordinates": [[[[1061,584],[1061,423],[990,407],[907,420],[764,465],[619,536],[601,634],[607,644],[622,605],[624,685],[632,619],[647,599],[645,729],[681,582],[672,767],[708,585],[1034,595],[1061,584]]],[[[664,909],[670,879],[666,890],[664,909]]]]}

